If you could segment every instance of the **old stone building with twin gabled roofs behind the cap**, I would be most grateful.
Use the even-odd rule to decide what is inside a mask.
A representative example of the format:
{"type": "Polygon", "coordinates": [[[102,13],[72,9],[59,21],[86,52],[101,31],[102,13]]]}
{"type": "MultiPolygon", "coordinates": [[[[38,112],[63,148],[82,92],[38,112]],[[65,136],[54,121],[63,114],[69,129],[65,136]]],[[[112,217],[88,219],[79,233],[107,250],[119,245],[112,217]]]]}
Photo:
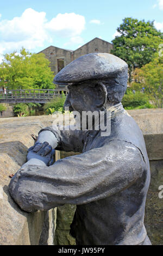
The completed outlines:
{"type": "MultiPolygon", "coordinates": [[[[79,58],[87,53],[92,52],[106,52],[110,53],[113,45],[110,42],[104,41],[99,38],[94,38],[87,42],[85,45],[79,47],[77,50],[65,50],[55,46],[49,46],[39,53],[44,53],[46,58],[51,62],[51,69],[54,75],[57,74],[62,68],[72,62],[74,59],[79,58]]],[[[59,86],[63,87],[63,86],[59,86]]]]}

